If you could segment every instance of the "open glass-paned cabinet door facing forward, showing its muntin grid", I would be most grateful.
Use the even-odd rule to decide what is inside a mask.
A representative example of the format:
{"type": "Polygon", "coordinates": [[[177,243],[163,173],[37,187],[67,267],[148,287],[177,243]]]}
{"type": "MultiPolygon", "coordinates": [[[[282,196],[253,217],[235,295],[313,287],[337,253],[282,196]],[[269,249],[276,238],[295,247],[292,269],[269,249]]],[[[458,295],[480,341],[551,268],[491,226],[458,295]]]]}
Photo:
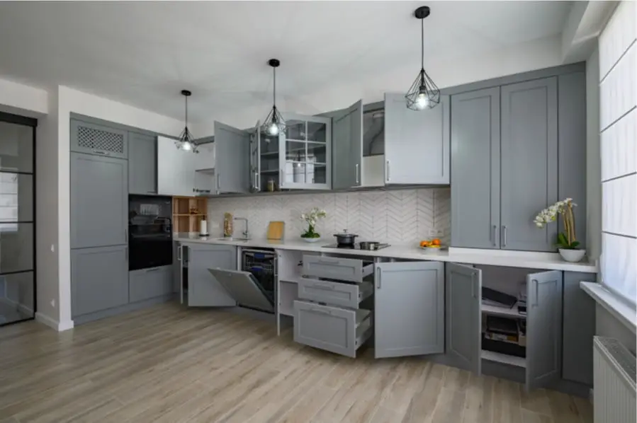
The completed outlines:
{"type": "Polygon", "coordinates": [[[286,113],[279,141],[283,190],[329,190],[332,187],[332,120],[286,113]]]}

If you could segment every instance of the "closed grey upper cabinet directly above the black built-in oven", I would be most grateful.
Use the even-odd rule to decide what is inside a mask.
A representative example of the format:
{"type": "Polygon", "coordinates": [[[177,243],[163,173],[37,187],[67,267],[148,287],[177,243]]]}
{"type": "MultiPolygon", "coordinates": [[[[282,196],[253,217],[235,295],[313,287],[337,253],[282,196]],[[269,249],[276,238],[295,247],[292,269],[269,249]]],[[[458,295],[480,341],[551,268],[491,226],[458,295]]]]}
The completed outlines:
{"type": "Polygon", "coordinates": [[[157,194],[157,138],[128,133],[128,192],[157,194]]]}

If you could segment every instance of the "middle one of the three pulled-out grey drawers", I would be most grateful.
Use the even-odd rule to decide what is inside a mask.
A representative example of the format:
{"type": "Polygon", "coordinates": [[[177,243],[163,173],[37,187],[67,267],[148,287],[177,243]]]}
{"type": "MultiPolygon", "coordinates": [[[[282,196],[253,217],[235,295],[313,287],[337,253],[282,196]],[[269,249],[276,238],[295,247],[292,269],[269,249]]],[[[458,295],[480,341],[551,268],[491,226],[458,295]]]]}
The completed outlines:
{"type": "Polygon", "coordinates": [[[370,282],[348,284],[344,282],[320,281],[318,279],[300,279],[298,298],[329,306],[359,308],[359,303],[373,294],[374,286],[370,282]]]}

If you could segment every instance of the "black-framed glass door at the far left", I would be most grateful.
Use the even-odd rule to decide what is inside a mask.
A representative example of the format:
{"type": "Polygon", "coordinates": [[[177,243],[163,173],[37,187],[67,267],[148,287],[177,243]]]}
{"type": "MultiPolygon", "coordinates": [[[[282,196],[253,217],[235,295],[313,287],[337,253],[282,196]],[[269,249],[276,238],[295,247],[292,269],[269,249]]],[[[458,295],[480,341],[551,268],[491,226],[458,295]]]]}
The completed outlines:
{"type": "Polygon", "coordinates": [[[35,126],[0,112],[0,326],[35,317],[35,126]]]}

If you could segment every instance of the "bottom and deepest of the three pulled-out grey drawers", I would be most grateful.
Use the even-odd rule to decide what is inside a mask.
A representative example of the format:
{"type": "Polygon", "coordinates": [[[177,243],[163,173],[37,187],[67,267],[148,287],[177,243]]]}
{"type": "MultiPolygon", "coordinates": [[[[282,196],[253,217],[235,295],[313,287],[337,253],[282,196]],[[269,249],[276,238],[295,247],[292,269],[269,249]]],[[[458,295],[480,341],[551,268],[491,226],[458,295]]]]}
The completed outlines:
{"type": "Polygon", "coordinates": [[[294,301],[294,341],[325,351],[356,357],[373,332],[369,310],[345,310],[294,301]]]}

